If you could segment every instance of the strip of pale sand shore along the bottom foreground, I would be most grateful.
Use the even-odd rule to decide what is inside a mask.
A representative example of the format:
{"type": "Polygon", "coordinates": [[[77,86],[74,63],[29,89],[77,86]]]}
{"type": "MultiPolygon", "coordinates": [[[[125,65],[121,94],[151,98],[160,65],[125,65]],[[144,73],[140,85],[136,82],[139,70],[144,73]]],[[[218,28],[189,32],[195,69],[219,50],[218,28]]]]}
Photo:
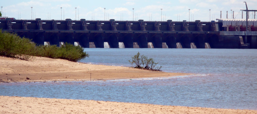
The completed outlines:
{"type": "Polygon", "coordinates": [[[164,106],[110,101],[0,96],[0,113],[256,114],[256,110],[164,106]]]}

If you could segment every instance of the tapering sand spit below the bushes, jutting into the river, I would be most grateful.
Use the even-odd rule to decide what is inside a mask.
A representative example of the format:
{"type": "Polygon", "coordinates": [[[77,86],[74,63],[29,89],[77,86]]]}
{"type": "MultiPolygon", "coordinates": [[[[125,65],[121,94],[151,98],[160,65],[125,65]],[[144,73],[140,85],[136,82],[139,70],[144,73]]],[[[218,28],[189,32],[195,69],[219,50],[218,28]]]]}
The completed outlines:
{"type": "Polygon", "coordinates": [[[44,82],[118,80],[150,77],[172,77],[192,74],[155,72],[121,66],[70,62],[63,59],[35,57],[33,61],[0,56],[1,82],[44,82]],[[29,78],[27,80],[26,78],[29,78]],[[7,80],[8,79],[8,80],[7,80]]]}

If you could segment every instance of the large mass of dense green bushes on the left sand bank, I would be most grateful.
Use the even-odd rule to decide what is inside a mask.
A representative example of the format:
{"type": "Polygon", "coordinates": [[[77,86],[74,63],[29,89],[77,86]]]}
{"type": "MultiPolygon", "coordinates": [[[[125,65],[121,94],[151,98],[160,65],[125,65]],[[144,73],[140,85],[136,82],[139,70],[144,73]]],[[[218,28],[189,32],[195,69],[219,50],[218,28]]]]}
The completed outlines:
{"type": "Polygon", "coordinates": [[[62,47],[56,45],[37,46],[28,38],[21,38],[17,34],[2,32],[0,30],[0,56],[32,60],[33,56],[47,58],[61,58],[77,62],[89,55],[80,46],[65,43],[62,47]]]}

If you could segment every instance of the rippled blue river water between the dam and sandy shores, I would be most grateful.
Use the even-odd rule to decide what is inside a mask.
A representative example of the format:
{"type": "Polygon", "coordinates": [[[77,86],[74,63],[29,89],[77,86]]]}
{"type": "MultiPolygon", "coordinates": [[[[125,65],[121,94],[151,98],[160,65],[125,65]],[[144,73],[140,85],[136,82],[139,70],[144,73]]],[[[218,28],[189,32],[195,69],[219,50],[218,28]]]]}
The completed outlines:
{"type": "Polygon", "coordinates": [[[257,110],[256,49],[85,48],[81,62],[131,66],[137,52],[165,72],[196,73],[173,78],[107,82],[0,84],[0,95],[150,103],[188,107],[257,110]]]}

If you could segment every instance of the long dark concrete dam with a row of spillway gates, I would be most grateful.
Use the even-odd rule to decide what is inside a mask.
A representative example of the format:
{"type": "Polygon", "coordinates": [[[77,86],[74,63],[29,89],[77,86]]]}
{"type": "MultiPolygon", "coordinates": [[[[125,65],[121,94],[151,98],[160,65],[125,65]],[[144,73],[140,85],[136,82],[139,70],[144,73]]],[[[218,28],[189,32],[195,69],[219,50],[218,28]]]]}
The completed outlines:
{"type": "Polygon", "coordinates": [[[257,48],[257,19],[187,21],[0,20],[0,29],[39,45],[84,48],[257,48]]]}

